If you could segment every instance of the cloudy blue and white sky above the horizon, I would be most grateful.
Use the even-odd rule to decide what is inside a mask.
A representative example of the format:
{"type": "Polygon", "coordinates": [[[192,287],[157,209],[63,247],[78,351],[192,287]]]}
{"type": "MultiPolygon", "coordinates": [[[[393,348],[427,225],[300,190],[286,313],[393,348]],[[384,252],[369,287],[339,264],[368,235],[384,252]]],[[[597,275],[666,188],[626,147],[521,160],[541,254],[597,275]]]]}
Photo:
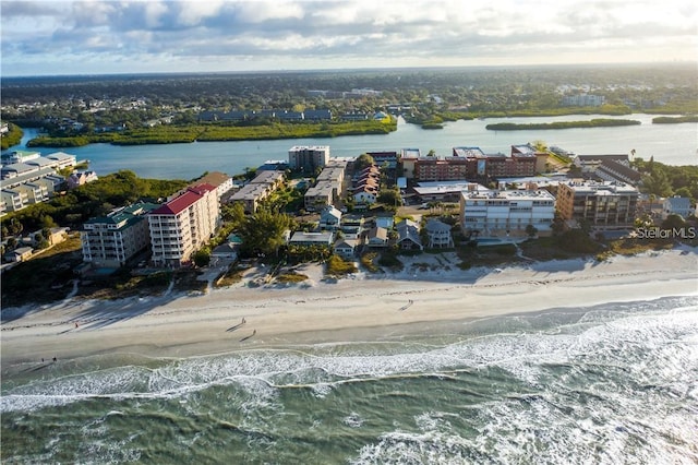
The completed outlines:
{"type": "Polygon", "coordinates": [[[0,75],[695,62],[696,0],[0,1],[0,75]]]}

